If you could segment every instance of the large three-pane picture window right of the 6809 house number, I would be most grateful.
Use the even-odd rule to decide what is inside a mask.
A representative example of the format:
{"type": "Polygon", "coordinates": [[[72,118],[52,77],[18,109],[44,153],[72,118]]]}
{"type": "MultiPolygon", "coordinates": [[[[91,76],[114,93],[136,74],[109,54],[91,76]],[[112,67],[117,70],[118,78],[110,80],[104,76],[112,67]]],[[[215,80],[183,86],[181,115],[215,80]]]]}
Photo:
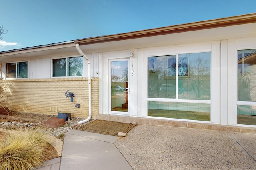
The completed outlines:
{"type": "Polygon", "coordinates": [[[210,121],[210,72],[211,52],[148,57],[148,116],[210,121]]]}

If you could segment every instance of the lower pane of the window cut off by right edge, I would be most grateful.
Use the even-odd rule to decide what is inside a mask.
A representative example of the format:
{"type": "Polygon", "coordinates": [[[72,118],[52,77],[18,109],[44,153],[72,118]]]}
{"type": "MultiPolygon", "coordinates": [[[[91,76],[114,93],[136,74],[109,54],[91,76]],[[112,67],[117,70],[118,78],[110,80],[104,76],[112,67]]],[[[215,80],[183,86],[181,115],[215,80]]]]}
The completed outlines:
{"type": "Polygon", "coordinates": [[[256,106],[238,105],[237,123],[244,125],[256,125],[256,106]]]}

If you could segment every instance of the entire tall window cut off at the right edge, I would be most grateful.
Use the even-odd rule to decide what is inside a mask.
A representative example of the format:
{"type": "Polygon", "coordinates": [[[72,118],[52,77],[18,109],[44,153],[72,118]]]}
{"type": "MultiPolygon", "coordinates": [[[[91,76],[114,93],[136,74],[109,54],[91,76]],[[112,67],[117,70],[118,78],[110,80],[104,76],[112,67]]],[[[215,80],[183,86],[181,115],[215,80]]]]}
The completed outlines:
{"type": "Polygon", "coordinates": [[[256,125],[256,49],[238,50],[237,64],[237,123],[256,125]]]}

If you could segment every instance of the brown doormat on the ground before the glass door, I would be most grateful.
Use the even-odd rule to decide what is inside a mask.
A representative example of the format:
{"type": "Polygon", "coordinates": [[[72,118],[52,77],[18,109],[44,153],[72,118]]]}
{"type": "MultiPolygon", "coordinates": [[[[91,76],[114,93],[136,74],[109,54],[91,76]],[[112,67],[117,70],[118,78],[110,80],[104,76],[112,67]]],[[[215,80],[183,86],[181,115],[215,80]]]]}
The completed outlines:
{"type": "Polygon", "coordinates": [[[79,130],[118,136],[118,132],[128,133],[135,125],[116,121],[94,120],[80,127],[79,130]]]}

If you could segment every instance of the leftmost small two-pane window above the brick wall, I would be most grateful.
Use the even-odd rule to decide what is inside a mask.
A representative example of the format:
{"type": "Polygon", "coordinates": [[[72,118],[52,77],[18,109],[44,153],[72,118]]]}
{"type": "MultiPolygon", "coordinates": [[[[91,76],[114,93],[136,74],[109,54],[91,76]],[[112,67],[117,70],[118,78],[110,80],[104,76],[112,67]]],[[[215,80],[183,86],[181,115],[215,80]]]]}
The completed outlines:
{"type": "Polygon", "coordinates": [[[7,63],[6,78],[28,78],[28,62],[7,63]]]}

